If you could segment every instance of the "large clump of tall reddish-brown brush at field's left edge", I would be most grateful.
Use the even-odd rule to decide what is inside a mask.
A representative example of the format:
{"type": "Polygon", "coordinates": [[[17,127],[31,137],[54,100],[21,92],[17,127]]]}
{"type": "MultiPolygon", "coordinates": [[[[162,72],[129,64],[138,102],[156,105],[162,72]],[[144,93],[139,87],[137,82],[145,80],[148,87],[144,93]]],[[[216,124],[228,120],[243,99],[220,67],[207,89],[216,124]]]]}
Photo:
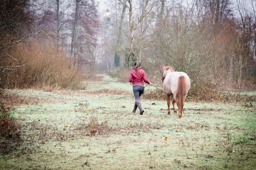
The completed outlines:
{"type": "Polygon", "coordinates": [[[76,89],[80,86],[81,71],[64,52],[57,54],[50,43],[30,42],[26,47],[12,49],[11,55],[16,60],[8,58],[4,64],[20,67],[2,76],[9,83],[8,88],[76,89]]]}

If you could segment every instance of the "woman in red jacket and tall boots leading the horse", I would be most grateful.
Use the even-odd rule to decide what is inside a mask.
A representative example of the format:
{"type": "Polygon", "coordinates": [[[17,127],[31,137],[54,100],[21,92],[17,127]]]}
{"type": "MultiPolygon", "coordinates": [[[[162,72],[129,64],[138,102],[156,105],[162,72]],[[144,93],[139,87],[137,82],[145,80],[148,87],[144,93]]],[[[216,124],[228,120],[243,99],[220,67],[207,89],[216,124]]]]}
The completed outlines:
{"type": "Polygon", "coordinates": [[[144,93],[144,83],[142,80],[151,85],[146,78],[145,71],[140,67],[140,62],[136,61],[134,63],[134,68],[130,73],[129,82],[132,82],[132,91],[135,97],[135,104],[132,112],[135,113],[137,107],[139,107],[140,115],[143,115],[144,112],[140,104],[140,95],[144,93]]]}

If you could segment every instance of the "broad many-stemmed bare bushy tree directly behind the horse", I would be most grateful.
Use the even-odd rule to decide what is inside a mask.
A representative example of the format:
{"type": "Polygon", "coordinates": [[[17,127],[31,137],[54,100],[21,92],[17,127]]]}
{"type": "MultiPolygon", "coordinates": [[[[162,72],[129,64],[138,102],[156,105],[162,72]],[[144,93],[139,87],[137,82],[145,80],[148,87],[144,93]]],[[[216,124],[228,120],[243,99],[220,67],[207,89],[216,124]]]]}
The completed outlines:
{"type": "Polygon", "coordinates": [[[156,58],[158,67],[171,65],[177,71],[186,72],[197,84],[209,71],[204,68],[210,60],[210,40],[205,39],[208,32],[197,24],[200,16],[192,10],[194,6],[186,8],[180,3],[174,8],[167,9],[163,22],[151,33],[148,55],[156,58]]]}

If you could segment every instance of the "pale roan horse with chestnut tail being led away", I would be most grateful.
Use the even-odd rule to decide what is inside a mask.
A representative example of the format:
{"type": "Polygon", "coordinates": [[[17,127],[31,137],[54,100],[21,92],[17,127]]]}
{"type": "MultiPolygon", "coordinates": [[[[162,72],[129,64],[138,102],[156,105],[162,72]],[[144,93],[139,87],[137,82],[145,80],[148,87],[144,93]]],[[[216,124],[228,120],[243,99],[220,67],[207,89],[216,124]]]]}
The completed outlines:
{"type": "Polygon", "coordinates": [[[163,65],[162,82],[165,99],[167,100],[168,105],[168,115],[171,113],[170,96],[173,95],[173,113],[174,115],[177,114],[177,110],[175,109],[175,103],[177,103],[179,109],[178,118],[181,118],[184,102],[188,90],[190,89],[190,79],[188,75],[184,72],[174,71],[171,66],[163,65]]]}

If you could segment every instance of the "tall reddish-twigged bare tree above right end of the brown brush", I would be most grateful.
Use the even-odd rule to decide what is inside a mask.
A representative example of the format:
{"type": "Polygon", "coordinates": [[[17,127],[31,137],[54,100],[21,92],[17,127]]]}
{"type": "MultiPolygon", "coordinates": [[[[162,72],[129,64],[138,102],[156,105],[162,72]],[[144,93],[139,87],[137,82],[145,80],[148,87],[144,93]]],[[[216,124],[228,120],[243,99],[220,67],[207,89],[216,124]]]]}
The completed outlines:
{"type": "Polygon", "coordinates": [[[75,3],[70,58],[73,58],[74,65],[77,65],[78,60],[92,64],[89,60],[85,62],[85,56],[86,52],[90,51],[88,47],[97,45],[96,35],[99,29],[97,10],[92,0],[76,0],[75,3]]]}

